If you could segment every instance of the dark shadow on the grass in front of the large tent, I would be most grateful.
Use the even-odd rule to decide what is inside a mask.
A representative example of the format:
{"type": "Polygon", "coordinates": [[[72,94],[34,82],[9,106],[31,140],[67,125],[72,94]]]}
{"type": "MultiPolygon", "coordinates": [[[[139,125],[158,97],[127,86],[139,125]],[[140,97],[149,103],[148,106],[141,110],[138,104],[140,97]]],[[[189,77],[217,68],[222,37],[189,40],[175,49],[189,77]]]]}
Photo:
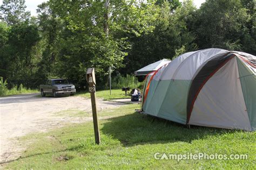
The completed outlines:
{"type": "Polygon", "coordinates": [[[203,126],[191,126],[166,121],[165,119],[138,114],[114,117],[103,124],[103,133],[118,139],[125,146],[133,146],[143,143],[172,143],[192,140],[206,136],[216,136],[222,133],[233,133],[234,130],[207,128],[203,126]]]}

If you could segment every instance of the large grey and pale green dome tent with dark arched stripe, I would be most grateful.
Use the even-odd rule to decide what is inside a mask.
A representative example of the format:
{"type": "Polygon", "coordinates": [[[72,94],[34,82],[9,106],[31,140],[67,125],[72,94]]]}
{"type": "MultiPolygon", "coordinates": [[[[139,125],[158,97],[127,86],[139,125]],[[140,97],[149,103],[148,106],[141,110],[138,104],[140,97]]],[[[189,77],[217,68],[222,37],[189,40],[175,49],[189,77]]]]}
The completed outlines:
{"type": "Polygon", "coordinates": [[[256,56],[210,48],[147,75],[145,114],[187,125],[256,130],[256,56]]]}

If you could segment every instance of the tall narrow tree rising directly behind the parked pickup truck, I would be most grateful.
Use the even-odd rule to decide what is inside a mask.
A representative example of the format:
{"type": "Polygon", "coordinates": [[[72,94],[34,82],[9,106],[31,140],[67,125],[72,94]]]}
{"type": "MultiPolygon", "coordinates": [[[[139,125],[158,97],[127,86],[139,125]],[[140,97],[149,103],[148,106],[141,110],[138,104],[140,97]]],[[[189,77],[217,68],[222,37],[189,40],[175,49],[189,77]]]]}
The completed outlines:
{"type": "Polygon", "coordinates": [[[55,65],[60,49],[59,34],[61,33],[62,23],[52,11],[49,2],[38,5],[38,29],[41,31],[41,61],[38,62],[37,84],[43,83],[46,79],[58,75],[55,65]]]}

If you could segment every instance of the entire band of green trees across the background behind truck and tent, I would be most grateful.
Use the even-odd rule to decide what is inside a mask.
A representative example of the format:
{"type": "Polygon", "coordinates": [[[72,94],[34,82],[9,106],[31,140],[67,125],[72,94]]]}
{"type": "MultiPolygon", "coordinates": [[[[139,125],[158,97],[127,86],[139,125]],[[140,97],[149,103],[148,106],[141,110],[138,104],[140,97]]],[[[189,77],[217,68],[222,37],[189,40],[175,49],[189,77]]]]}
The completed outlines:
{"type": "MultiPolygon", "coordinates": [[[[109,67],[121,79],[198,49],[256,54],[255,0],[208,0],[200,9],[192,0],[110,0],[107,9],[104,1],[50,0],[38,6],[36,18],[24,2],[4,0],[0,8],[0,75],[9,89],[36,88],[50,77],[84,87],[89,67],[105,89],[109,67]]],[[[113,86],[125,84],[120,81],[113,86]]]]}

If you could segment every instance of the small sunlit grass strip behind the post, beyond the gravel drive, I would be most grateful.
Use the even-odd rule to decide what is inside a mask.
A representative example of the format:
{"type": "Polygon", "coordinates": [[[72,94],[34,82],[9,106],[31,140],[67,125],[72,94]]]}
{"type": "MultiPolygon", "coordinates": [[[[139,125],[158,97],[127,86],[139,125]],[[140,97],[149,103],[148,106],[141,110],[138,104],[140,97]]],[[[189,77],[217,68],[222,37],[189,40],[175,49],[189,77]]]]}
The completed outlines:
{"type": "MultiPolygon", "coordinates": [[[[83,96],[90,98],[90,93],[78,93],[78,96],[83,96]]],[[[96,97],[104,98],[104,100],[112,100],[112,99],[119,99],[119,98],[131,98],[127,92],[127,96],[125,96],[125,91],[122,91],[121,89],[112,89],[111,95],[110,90],[100,90],[96,91],[96,97]]]]}

